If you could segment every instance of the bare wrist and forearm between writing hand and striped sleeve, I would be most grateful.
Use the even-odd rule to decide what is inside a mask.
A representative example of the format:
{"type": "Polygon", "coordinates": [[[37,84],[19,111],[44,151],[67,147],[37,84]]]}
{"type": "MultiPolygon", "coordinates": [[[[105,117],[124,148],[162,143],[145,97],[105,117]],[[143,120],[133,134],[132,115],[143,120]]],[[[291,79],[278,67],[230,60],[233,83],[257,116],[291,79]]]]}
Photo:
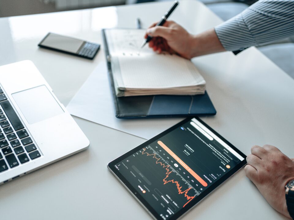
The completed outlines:
{"type": "Polygon", "coordinates": [[[191,36],[191,57],[198,57],[210,53],[225,51],[218,39],[214,28],[191,36]]]}

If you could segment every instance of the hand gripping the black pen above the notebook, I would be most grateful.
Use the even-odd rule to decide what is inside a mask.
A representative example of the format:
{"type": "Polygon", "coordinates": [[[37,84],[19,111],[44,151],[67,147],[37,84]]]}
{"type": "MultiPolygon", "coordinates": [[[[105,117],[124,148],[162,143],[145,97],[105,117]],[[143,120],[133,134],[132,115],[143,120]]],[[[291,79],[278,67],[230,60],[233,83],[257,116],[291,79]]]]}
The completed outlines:
{"type": "Polygon", "coordinates": [[[193,35],[189,34],[182,26],[173,21],[166,21],[163,26],[153,23],[146,31],[145,38],[152,36],[149,47],[161,53],[166,51],[178,54],[187,59],[192,58],[191,44],[193,35]]]}

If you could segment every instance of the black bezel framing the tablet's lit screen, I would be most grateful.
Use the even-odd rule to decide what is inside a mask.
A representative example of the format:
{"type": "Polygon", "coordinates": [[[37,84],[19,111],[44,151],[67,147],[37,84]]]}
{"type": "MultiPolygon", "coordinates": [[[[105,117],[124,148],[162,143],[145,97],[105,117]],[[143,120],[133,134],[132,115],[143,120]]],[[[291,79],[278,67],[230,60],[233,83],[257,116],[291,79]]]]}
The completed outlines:
{"type": "Polygon", "coordinates": [[[141,145],[135,147],[134,149],[124,153],[122,156],[119,156],[115,160],[109,162],[107,164],[108,169],[115,175],[116,178],[119,179],[119,181],[128,189],[128,191],[139,201],[139,203],[153,216],[153,218],[156,219],[162,219],[161,216],[153,209],[151,205],[144,199],[143,196],[141,196],[140,193],[127,181],[127,179],[115,168],[115,164],[120,163],[127,157],[131,156],[138,150],[142,149],[143,147],[148,146],[149,144],[153,143],[154,141],[158,140],[162,136],[168,134],[169,132],[175,130],[176,128],[179,128],[181,125],[189,122],[191,119],[197,119],[199,122],[201,122],[205,127],[207,127],[213,134],[217,135],[222,141],[224,141],[227,145],[229,145],[232,149],[234,149],[237,153],[239,153],[244,160],[237,164],[236,167],[232,168],[232,170],[228,171],[224,176],[222,176],[219,180],[217,180],[213,185],[209,186],[208,189],[206,189],[204,192],[202,192],[199,196],[197,196],[195,199],[193,199],[189,204],[187,204],[184,208],[180,209],[178,212],[176,212],[170,220],[177,219],[184,214],[186,214],[192,207],[197,205],[202,199],[204,199],[209,193],[211,193],[213,190],[215,190],[218,186],[220,186],[223,182],[228,180],[228,178],[232,177],[233,174],[235,174],[238,170],[240,170],[242,167],[244,167],[246,162],[246,155],[243,154],[239,149],[237,149],[234,145],[232,145],[230,142],[228,142],[226,139],[224,139],[220,134],[218,134],[215,130],[213,130],[211,127],[209,127],[206,123],[204,123],[201,119],[198,117],[188,117],[187,119],[184,119],[183,121],[177,123],[176,125],[172,126],[171,128],[165,130],[164,132],[156,135],[155,137],[149,139],[148,141],[145,141],[141,145]]]}

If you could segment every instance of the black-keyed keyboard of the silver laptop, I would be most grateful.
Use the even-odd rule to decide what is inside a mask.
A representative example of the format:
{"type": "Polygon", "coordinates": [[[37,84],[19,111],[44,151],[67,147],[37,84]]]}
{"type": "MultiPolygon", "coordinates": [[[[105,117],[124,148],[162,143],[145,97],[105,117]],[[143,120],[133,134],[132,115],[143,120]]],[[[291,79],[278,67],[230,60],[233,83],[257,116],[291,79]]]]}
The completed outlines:
{"type": "Polygon", "coordinates": [[[0,87],[0,173],[41,156],[0,87]]]}

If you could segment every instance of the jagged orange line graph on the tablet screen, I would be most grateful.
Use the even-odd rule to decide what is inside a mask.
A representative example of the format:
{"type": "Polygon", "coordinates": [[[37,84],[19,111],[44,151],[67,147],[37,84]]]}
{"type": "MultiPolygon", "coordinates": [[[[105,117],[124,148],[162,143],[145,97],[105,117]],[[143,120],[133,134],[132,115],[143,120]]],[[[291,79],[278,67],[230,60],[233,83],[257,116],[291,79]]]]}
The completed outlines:
{"type": "Polygon", "coordinates": [[[165,174],[166,174],[166,177],[163,179],[163,182],[164,182],[163,184],[165,185],[165,184],[167,184],[167,183],[169,183],[169,182],[171,182],[171,183],[175,183],[175,185],[177,186],[177,189],[178,189],[179,194],[180,194],[180,195],[181,195],[181,194],[184,194],[184,196],[185,196],[186,199],[188,200],[188,202],[183,206],[183,207],[185,207],[185,206],[186,206],[191,200],[193,200],[193,199],[195,198],[195,196],[188,196],[188,192],[189,192],[189,190],[192,189],[192,188],[190,187],[190,188],[188,188],[188,189],[182,191],[182,186],[179,184],[178,181],[175,181],[174,179],[172,179],[172,180],[167,180],[169,174],[171,174],[171,172],[172,172],[172,171],[169,169],[170,165],[165,165],[165,163],[160,162],[160,161],[159,161],[160,158],[157,158],[155,153],[153,153],[153,154],[149,154],[148,152],[145,152],[145,151],[146,151],[146,148],[143,148],[142,155],[146,154],[147,156],[153,156],[153,158],[156,160],[155,163],[156,163],[156,164],[160,164],[161,167],[165,168],[165,170],[166,170],[166,173],[165,173],[165,174]]]}

